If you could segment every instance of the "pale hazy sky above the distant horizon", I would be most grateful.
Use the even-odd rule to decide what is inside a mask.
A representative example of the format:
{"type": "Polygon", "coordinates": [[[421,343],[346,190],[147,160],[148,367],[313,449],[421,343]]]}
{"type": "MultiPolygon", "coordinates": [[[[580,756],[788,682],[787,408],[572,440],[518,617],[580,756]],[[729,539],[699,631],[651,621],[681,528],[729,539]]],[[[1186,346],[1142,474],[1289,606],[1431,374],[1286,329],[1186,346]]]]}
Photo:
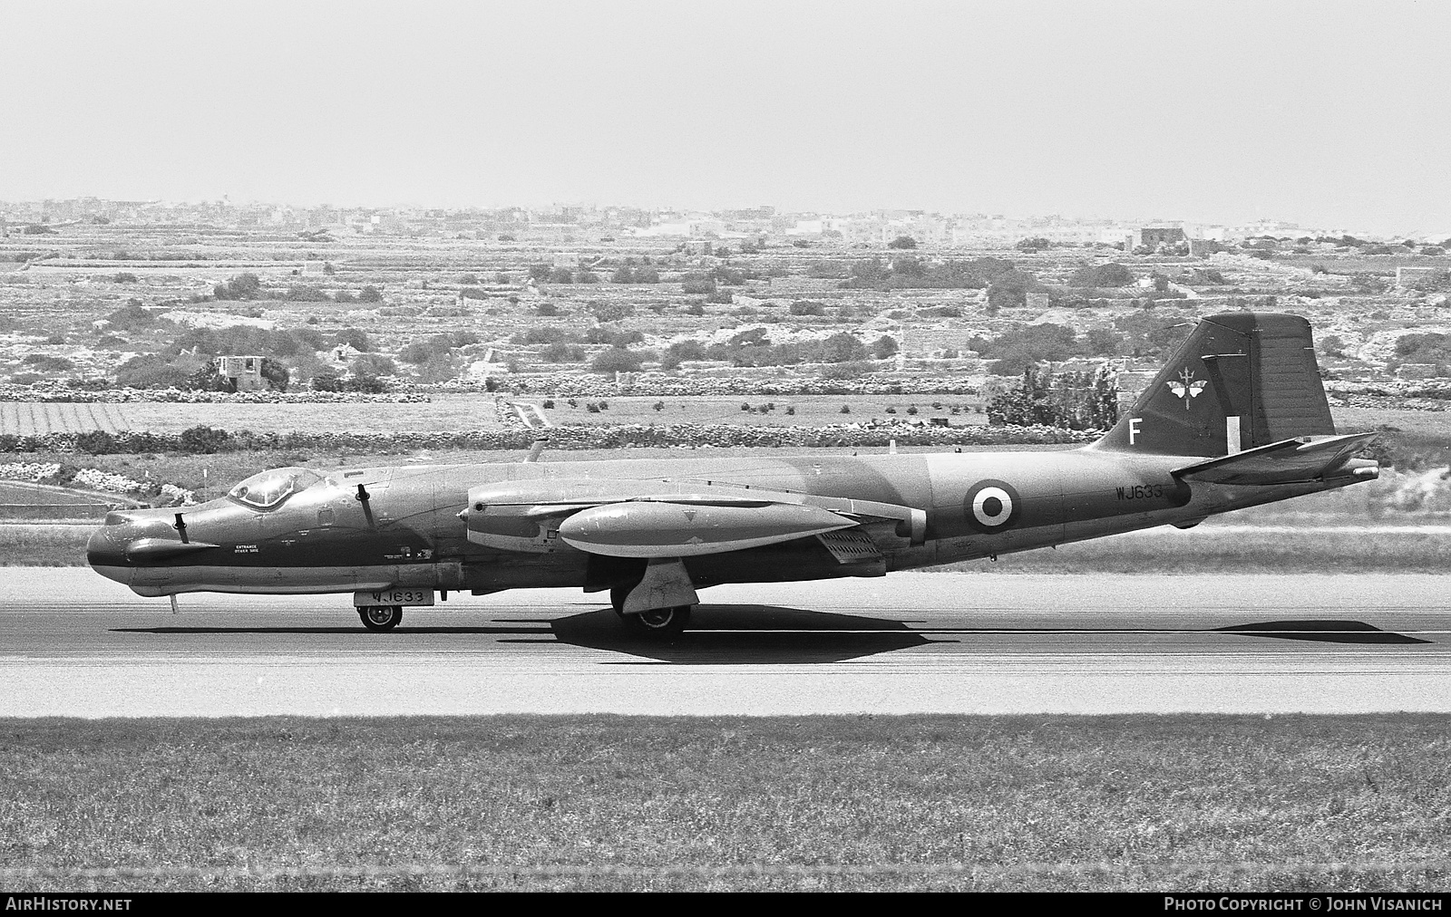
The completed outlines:
{"type": "Polygon", "coordinates": [[[0,199],[1451,231],[1451,3],[0,1],[0,199]]]}

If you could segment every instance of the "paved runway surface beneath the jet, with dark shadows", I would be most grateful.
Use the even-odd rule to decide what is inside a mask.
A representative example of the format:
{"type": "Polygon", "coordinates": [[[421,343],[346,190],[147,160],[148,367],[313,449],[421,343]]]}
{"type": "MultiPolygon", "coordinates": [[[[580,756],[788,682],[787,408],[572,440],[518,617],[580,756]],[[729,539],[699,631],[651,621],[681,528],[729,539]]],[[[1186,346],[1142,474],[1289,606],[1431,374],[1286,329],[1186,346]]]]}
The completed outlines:
{"type": "Polygon", "coordinates": [[[598,595],[142,599],[0,567],[0,715],[1451,711],[1451,577],[1033,576],[717,586],[673,644],[598,595]]]}

